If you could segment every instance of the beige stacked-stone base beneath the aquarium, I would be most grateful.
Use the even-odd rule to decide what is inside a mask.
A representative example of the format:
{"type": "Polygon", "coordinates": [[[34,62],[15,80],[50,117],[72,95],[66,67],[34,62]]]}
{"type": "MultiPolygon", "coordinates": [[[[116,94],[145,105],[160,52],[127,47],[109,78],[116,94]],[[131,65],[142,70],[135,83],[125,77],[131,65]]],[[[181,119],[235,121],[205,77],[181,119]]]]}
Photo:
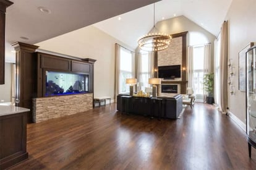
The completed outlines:
{"type": "Polygon", "coordinates": [[[33,98],[33,121],[42,122],[92,108],[93,93],[33,98]]]}

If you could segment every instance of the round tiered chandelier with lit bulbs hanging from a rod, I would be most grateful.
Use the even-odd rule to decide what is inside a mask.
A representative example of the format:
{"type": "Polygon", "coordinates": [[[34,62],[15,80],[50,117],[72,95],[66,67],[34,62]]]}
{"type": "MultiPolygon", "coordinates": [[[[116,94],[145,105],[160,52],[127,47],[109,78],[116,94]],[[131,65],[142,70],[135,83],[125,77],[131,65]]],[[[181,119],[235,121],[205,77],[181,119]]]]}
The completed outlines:
{"type": "Polygon", "coordinates": [[[140,49],[145,51],[161,51],[168,48],[171,35],[160,33],[155,27],[155,3],[154,3],[154,27],[153,32],[139,38],[140,49]]]}

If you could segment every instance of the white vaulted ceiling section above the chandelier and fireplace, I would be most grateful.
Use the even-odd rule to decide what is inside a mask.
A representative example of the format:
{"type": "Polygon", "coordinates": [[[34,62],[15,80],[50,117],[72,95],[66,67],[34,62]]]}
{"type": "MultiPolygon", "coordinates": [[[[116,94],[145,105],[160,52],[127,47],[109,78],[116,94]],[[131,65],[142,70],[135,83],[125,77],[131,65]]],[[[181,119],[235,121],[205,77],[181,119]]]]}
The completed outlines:
{"type": "MultiPolygon", "coordinates": [[[[155,23],[184,15],[188,19],[218,35],[232,0],[163,0],[155,4],[155,23]]],[[[111,36],[137,48],[137,40],[153,27],[153,4],[94,24],[111,36]],[[118,20],[118,17],[121,20],[118,20]]]]}

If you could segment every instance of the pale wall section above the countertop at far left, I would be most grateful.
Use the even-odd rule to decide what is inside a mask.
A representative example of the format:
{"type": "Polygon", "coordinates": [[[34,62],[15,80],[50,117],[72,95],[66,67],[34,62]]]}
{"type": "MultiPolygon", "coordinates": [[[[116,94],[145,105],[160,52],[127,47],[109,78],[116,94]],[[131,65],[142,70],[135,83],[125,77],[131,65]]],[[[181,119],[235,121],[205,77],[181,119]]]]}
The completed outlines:
{"type": "Polygon", "coordinates": [[[0,85],[0,103],[11,102],[11,87],[12,87],[12,63],[6,62],[5,67],[5,82],[0,85]]]}

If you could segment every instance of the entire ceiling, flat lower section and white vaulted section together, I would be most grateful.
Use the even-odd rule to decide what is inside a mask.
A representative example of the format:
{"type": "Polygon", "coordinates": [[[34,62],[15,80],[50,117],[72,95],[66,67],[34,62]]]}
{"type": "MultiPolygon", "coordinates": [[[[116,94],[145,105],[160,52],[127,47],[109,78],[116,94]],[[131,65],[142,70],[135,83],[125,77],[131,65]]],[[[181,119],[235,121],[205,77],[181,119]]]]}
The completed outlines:
{"type": "Polygon", "coordinates": [[[174,14],[184,15],[198,25],[203,23],[203,28],[217,35],[232,2],[232,0],[11,1],[14,4],[7,8],[6,13],[6,61],[13,61],[15,56],[11,53],[10,43],[21,41],[35,44],[96,22],[99,22],[95,24],[96,27],[135,49],[139,36],[148,33],[153,27],[153,2],[156,2],[156,22],[162,17],[169,19],[174,17],[174,14]],[[38,7],[46,7],[51,14],[40,12],[38,7]],[[121,20],[117,19],[118,16],[121,16],[121,20]],[[101,20],[104,21],[100,22],[101,20]],[[24,40],[20,38],[21,36],[29,40],[24,40]]]}

